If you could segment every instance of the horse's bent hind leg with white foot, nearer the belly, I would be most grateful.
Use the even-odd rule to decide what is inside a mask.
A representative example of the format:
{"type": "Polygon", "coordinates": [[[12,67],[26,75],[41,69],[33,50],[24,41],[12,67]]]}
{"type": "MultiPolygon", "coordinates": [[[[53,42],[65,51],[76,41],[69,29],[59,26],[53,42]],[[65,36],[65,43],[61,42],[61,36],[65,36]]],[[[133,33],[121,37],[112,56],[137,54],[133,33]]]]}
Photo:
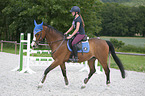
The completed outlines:
{"type": "Polygon", "coordinates": [[[95,60],[96,60],[96,58],[91,58],[90,60],[88,60],[88,65],[89,65],[89,68],[90,68],[90,73],[88,75],[88,78],[84,79],[84,85],[81,88],[85,88],[85,84],[87,84],[87,82],[89,81],[91,76],[96,72],[96,69],[95,69],[95,60]]]}

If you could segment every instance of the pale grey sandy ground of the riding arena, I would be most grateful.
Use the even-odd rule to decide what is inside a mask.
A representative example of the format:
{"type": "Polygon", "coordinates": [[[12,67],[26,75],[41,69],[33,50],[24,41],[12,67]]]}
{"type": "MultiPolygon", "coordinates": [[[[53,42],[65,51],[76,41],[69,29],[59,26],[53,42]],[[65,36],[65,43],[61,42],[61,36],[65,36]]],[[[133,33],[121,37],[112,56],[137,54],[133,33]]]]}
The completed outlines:
{"type": "Polygon", "coordinates": [[[105,74],[94,74],[85,89],[81,89],[87,72],[80,65],[67,65],[69,85],[65,87],[59,67],[52,70],[41,89],[37,88],[46,66],[31,67],[36,73],[11,71],[18,65],[19,56],[0,52],[0,96],[145,96],[145,73],[126,71],[121,78],[119,70],[111,70],[111,83],[106,85],[105,74]]]}

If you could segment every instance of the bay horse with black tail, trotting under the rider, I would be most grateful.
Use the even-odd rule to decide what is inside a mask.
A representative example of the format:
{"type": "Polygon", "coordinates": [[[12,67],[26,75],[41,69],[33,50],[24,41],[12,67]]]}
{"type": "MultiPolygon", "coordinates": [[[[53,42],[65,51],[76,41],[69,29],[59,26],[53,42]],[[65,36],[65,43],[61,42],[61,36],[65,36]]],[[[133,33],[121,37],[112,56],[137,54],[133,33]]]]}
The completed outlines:
{"type": "MultiPolygon", "coordinates": [[[[42,25],[42,24],[41,24],[42,25]]],[[[35,24],[35,27],[37,24],[35,24]]],[[[34,28],[36,29],[36,28],[34,28]]],[[[44,38],[46,38],[51,50],[52,50],[52,57],[54,59],[54,62],[46,68],[44,71],[44,75],[42,76],[42,79],[40,80],[38,84],[38,88],[41,88],[43,86],[43,83],[46,79],[47,74],[57,67],[58,65],[61,68],[62,74],[64,76],[64,81],[65,85],[68,85],[68,79],[66,75],[66,66],[65,62],[69,60],[71,52],[67,48],[67,40],[65,39],[65,36],[63,33],[59,32],[52,26],[46,26],[42,25],[42,29],[37,29],[40,30],[35,34],[35,43],[32,42],[33,44],[31,46],[36,46],[40,41],[42,41],[44,38]]],[[[35,30],[34,30],[35,31],[35,30]]],[[[88,77],[84,79],[84,85],[87,84],[91,76],[95,73],[95,60],[98,59],[100,64],[102,65],[105,74],[106,74],[106,84],[110,83],[110,69],[107,65],[107,59],[108,59],[108,54],[109,52],[111,53],[113,59],[115,60],[116,64],[118,65],[122,78],[125,78],[125,70],[122,65],[122,62],[120,59],[117,57],[115,54],[114,47],[110,41],[105,41],[97,38],[91,38],[88,40],[89,45],[90,45],[90,51],[88,53],[78,53],[78,62],[84,62],[88,61],[89,69],[90,72],[88,74],[88,77]]],[[[82,86],[84,88],[85,86],[82,86]]]]}

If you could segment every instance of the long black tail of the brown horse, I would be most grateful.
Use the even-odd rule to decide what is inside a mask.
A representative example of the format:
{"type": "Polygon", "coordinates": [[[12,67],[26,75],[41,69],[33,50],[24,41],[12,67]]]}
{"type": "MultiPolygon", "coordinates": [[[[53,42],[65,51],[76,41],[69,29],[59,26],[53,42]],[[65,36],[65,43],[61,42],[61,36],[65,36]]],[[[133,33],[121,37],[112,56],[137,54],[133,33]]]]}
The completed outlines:
{"type": "Polygon", "coordinates": [[[110,41],[106,41],[106,42],[109,46],[109,51],[111,52],[111,55],[113,56],[114,61],[116,62],[116,64],[118,65],[118,67],[121,71],[122,78],[125,78],[125,70],[124,70],[123,64],[120,61],[120,59],[117,57],[115,50],[114,50],[114,47],[113,47],[113,44],[110,41]]]}

